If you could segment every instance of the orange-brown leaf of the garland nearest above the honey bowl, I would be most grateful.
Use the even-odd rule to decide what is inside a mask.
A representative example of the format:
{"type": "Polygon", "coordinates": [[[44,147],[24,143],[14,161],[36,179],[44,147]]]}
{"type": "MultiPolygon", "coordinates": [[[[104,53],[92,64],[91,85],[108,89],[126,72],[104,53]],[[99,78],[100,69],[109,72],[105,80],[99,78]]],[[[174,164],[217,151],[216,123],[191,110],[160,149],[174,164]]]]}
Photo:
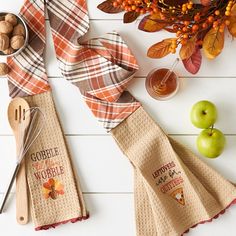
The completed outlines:
{"type": "Polygon", "coordinates": [[[170,53],[172,38],[164,39],[159,43],[152,45],[147,52],[150,58],[162,58],[170,53]]]}

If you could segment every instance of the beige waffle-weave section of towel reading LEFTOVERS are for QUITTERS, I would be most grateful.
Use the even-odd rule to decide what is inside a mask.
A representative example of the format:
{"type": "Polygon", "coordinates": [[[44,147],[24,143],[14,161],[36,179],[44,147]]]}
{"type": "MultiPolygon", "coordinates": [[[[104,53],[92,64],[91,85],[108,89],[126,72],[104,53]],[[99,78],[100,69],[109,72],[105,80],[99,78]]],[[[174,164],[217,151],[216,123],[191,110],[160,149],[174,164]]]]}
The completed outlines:
{"type": "Polygon", "coordinates": [[[179,236],[235,203],[236,188],[169,138],[141,107],[112,135],[135,170],[138,236],[179,236]]]}

